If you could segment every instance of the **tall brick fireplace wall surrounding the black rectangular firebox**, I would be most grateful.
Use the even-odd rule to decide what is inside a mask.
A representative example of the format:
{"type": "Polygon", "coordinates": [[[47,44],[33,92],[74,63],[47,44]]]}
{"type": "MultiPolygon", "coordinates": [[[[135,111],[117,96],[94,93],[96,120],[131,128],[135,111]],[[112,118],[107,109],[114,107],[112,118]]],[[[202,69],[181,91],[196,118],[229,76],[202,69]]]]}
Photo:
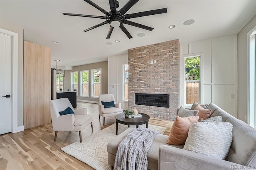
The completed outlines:
{"type": "Polygon", "coordinates": [[[179,103],[179,40],[128,50],[129,109],[150,117],[174,120],[179,103]],[[169,107],[135,104],[135,93],[168,94],[169,107]]]}

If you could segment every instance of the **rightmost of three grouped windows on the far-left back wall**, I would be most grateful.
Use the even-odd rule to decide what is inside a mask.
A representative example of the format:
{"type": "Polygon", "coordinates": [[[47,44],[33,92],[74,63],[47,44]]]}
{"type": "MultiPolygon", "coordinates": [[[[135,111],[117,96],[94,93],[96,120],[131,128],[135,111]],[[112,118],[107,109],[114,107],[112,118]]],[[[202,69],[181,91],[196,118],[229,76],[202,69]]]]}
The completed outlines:
{"type": "Polygon", "coordinates": [[[101,69],[91,70],[91,97],[98,98],[101,94],[101,69]]]}

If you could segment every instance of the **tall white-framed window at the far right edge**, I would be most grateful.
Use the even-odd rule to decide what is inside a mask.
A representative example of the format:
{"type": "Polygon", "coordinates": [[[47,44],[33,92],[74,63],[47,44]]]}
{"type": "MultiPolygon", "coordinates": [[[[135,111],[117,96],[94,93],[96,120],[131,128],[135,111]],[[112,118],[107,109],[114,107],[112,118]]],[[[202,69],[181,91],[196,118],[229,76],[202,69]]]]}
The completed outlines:
{"type": "Polygon", "coordinates": [[[247,33],[247,123],[256,128],[256,26],[247,33]]]}

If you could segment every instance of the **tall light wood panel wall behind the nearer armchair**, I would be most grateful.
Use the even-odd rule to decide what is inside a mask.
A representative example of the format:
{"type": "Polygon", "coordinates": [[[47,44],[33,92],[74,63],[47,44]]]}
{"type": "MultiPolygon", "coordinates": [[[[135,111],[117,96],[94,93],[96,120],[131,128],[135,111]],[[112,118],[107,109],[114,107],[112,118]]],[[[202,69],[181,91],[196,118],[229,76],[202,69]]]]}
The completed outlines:
{"type": "Polygon", "coordinates": [[[51,122],[51,49],[24,41],[24,129],[51,122]]]}

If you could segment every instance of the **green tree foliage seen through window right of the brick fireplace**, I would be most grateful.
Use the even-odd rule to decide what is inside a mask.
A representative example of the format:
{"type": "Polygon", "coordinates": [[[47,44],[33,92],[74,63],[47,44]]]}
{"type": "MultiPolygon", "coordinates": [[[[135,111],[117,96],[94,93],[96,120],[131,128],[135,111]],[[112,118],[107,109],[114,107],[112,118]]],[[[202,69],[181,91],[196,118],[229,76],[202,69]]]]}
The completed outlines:
{"type": "Polygon", "coordinates": [[[187,58],[185,61],[186,76],[196,76],[200,80],[200,57],[187,58]]]}

